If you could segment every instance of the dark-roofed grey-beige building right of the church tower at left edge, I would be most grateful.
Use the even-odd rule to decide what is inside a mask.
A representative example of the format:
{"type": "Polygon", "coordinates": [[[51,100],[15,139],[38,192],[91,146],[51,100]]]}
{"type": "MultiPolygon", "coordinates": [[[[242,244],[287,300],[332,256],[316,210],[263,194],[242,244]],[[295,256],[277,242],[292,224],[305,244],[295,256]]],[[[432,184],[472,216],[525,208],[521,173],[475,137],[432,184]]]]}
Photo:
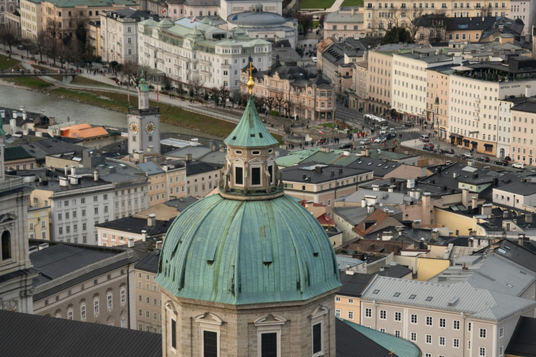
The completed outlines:
{"type": "Polygon", "coordinates": [[[129,328],[128,271],[138,260],[132,251],[50,242],[30,260],[40,270],[34,314],[129,328]]]}

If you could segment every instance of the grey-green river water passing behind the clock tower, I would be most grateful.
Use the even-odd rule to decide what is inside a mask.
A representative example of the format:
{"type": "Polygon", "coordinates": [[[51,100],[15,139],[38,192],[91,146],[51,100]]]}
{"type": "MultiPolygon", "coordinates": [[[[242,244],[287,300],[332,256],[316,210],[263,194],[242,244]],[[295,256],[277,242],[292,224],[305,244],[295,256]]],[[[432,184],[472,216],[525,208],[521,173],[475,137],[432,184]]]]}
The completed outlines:
{"type": "MultiPolygon", "coordinates": [[[[24,105],[24,109],[28,112],[39,113],[44,111],[45,115],[55,117],[59,123],[70,120],[76,123],[89,123],[96,126],[124,128],[125,131],[127,127],[125,113],[114,112],[57,96],[47,96],[40,92],[14,88],[0,83],[0,107],[19,109],[21,105],[24,105]]],[[[179,139],[184,140],[188,140],[190,137],[198,137],[200,142],[204,142],[202,139],[222,139],[204,132],[200,133],[167,123],[161,123],[160,129],[161,132],[181,134],[179,139]]]]}

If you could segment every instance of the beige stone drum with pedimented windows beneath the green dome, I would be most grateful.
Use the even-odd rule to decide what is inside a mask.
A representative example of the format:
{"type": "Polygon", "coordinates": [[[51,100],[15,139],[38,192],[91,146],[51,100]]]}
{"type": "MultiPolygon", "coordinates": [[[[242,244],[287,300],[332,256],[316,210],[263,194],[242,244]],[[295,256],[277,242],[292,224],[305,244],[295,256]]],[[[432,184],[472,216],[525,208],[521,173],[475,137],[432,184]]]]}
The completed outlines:
{"type": "Polygon", "coordinates": [[[202,356],[207,331],[216,333],[221,357],[260,356],[264,333],[276,333],[278,356],[313,356],[313,325],[320,323],[318,356],[334,357],[334,293],[308,301],[226,305],[177,298],[162,289],[163,356],[202,356]]]}

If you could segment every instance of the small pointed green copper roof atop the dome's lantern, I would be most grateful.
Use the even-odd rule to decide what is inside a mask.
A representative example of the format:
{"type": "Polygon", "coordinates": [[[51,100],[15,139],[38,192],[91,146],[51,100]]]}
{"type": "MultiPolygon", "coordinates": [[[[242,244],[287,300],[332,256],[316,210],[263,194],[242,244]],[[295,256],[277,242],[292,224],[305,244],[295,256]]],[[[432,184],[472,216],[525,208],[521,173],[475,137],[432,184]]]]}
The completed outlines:
{"type": "Polygon", "coordinates": [[[231,134],[223,140],[225,144],[240,147],[262,147],[276,145],[278,141],[271,136],[265,124],[260,120],[253,96],[249,96],[248,104],[238,125],[231,134]]]}

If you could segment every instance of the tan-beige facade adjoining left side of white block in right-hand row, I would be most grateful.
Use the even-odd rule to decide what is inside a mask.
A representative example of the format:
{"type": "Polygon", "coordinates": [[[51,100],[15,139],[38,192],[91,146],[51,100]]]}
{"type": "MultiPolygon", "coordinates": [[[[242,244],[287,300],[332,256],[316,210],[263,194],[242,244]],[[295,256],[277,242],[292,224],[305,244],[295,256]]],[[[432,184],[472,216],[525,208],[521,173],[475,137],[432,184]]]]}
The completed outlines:
{"type": "Polygon", "coordinates": [[[368,52],[368,113],[384,115],[391,110],[393,54],[368,52]]]}

